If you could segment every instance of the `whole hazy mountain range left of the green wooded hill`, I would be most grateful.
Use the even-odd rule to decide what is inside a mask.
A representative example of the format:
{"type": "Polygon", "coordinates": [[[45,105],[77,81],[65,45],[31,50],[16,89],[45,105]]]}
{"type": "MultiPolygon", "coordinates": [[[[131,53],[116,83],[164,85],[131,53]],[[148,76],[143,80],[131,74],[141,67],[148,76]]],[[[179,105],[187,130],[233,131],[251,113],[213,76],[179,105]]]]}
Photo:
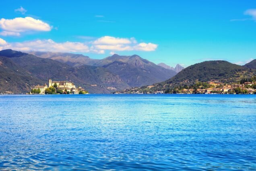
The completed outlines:
{"type": "Polygon", "coordinates": [[[34,54],[43,58],[11,49],[0,51],[0,56],[2,56],[0,67],[3,73],[0,92],[26,93],[34,85],[47,83],[48,79],[53,79],[73,81],[89,93],[110,93],[132,86],[164,81],[176,74],[138,55],[115,54],[97,60],[72,53],[34,54]],[[20,77],[20,75],[26,77],[20,77]],[[17,83],[12,83],[14,80],[17,83]]]}

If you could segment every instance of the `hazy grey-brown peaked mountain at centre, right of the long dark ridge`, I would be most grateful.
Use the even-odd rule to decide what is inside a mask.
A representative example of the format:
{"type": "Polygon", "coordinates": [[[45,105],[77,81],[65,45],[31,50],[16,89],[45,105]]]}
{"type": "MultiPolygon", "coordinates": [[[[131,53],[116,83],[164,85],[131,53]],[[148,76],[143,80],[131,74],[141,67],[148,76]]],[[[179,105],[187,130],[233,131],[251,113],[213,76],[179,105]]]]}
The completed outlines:
{"type": "Polygon", "coordinates": [[[103,66],[112,73],[119,75],[131,87],[149,85],[176,75],[174,71],[142,59],[138,55],[120,56],[114,54],[98,61],[95,65],[103,66]]]}

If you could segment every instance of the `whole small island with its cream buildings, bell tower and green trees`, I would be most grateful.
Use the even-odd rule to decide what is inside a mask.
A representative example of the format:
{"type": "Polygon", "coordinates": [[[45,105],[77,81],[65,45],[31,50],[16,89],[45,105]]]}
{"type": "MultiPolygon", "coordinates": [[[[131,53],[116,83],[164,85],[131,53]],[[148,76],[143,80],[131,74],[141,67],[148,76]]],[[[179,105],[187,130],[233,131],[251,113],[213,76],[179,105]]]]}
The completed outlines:
{"type": "Polygon", "coordinates": [[[52,81],[48,80],[48,86],[45,85],[36,85],[31,92],[28,94],[88,94],[88,92],[78,87],[70,81],[52,81]]]}

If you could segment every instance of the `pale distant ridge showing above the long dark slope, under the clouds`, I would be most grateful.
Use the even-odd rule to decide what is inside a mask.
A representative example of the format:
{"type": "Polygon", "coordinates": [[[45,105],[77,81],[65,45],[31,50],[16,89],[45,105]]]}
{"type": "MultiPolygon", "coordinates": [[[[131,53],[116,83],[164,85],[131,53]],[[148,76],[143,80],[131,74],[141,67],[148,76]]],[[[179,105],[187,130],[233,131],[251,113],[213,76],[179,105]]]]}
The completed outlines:
{"type": "Polygon", "coordinates": [[[99,59],[91,59],[82,54],[60,53],[60,52],[28,52],[41,58],[53,59],[62,63],[66,63],[72,67],[81,67],[83,65],[93,65],[99,59]]]}

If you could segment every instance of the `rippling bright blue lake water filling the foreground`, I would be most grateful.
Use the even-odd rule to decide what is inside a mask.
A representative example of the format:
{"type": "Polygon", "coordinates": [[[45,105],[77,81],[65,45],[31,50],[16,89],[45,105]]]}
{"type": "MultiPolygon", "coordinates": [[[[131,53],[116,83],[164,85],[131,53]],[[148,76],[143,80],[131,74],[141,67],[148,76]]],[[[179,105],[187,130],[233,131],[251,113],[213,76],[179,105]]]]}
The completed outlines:
{"type": "Polygon", "coordinates": [[[12,169],[256,170],[256,96],[0,96],[12,169]]]}

